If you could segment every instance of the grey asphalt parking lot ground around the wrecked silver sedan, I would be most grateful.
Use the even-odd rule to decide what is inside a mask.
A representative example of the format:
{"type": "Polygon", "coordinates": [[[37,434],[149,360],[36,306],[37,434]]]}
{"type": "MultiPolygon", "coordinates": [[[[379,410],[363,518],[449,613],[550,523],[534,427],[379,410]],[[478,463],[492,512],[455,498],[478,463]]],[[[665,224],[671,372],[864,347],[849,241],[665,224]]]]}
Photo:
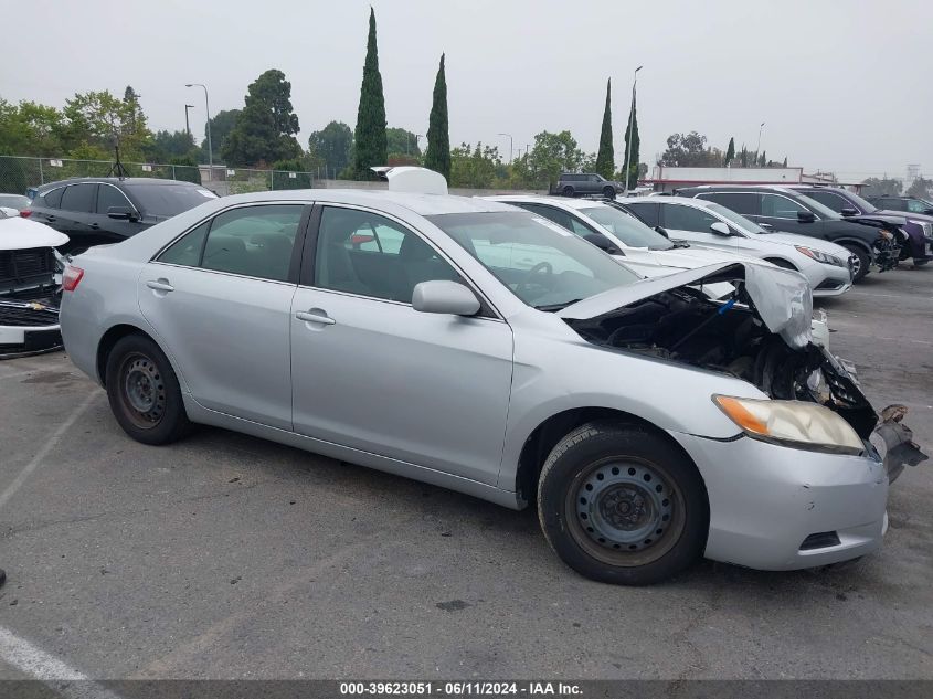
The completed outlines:
{"type": "MultiPolygon", "coordinates": [[[[817,307],[930,452],[933,269],[817,307]]],[[[62,353],[0,363],[0,460],[2,677],[17,644],[95,678],[933,677],[930,462],[874,555],[630,589],[565,568],[531,510],[221,430],[137,444],[62,353]]]]}

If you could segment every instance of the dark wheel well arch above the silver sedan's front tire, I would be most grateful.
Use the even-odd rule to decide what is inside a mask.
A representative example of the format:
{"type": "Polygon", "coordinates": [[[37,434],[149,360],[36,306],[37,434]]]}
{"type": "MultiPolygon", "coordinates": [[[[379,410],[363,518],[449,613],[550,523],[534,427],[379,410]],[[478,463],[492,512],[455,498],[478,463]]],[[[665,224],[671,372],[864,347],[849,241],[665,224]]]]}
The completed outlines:
{"type": "MultiPolygon", "coordinates": [[[[576,427],[596,420],[612,420],[649,430],[672,444],[683,454],[685,458],[693,464],[693,459],[676,439],[643,417],[611,407],[576,407],[552,415],[538,425],[526,439],[518,457],[518,472],[516,473],[516,491],[520,500],[526,502],[537,500],[538,477],[541,474],[541,467],[558,442],[576,427]]],[[[696,464],[693,466],[696,467],[696,464]]],[[[702,474],[700,474],[700,478],[702,478],[702,474]]]]}

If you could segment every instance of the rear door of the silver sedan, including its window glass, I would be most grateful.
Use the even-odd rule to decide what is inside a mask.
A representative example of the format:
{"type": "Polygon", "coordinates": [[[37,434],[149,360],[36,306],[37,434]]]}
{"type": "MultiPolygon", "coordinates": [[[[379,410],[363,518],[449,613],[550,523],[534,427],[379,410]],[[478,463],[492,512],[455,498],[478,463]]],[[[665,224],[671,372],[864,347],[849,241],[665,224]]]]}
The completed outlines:
{"type": "Polygon", "coordinates": [[[289,318],[309,214],[227,209],[144,267],[140,310],[204,407],[291,430],[289,318]]]}

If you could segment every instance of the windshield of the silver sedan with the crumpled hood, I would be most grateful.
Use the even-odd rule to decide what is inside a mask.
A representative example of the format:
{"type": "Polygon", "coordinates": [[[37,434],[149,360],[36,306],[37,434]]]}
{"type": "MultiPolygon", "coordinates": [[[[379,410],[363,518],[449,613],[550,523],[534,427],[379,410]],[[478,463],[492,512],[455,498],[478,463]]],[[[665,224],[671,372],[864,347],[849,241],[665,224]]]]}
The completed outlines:
{"type": "Polygon", "coordinates": [[[638,275],[570,231],[530,212],[427,216],[522,301],[560,310],[638,275]]]}

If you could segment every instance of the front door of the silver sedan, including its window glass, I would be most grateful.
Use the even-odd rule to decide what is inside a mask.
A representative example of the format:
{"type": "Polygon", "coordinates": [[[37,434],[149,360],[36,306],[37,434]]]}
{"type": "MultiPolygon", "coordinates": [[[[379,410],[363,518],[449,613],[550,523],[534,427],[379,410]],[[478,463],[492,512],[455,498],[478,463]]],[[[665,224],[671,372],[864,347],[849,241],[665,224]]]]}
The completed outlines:
{"type": "Polygon", "coordinates": [[[325,206],[308,248],[314,240],[291,305],[295,431],[495,484],[511,386],[509,326],[491,311],[414,310],[417,283],[463,278],[396,221],[325,206]]]}

